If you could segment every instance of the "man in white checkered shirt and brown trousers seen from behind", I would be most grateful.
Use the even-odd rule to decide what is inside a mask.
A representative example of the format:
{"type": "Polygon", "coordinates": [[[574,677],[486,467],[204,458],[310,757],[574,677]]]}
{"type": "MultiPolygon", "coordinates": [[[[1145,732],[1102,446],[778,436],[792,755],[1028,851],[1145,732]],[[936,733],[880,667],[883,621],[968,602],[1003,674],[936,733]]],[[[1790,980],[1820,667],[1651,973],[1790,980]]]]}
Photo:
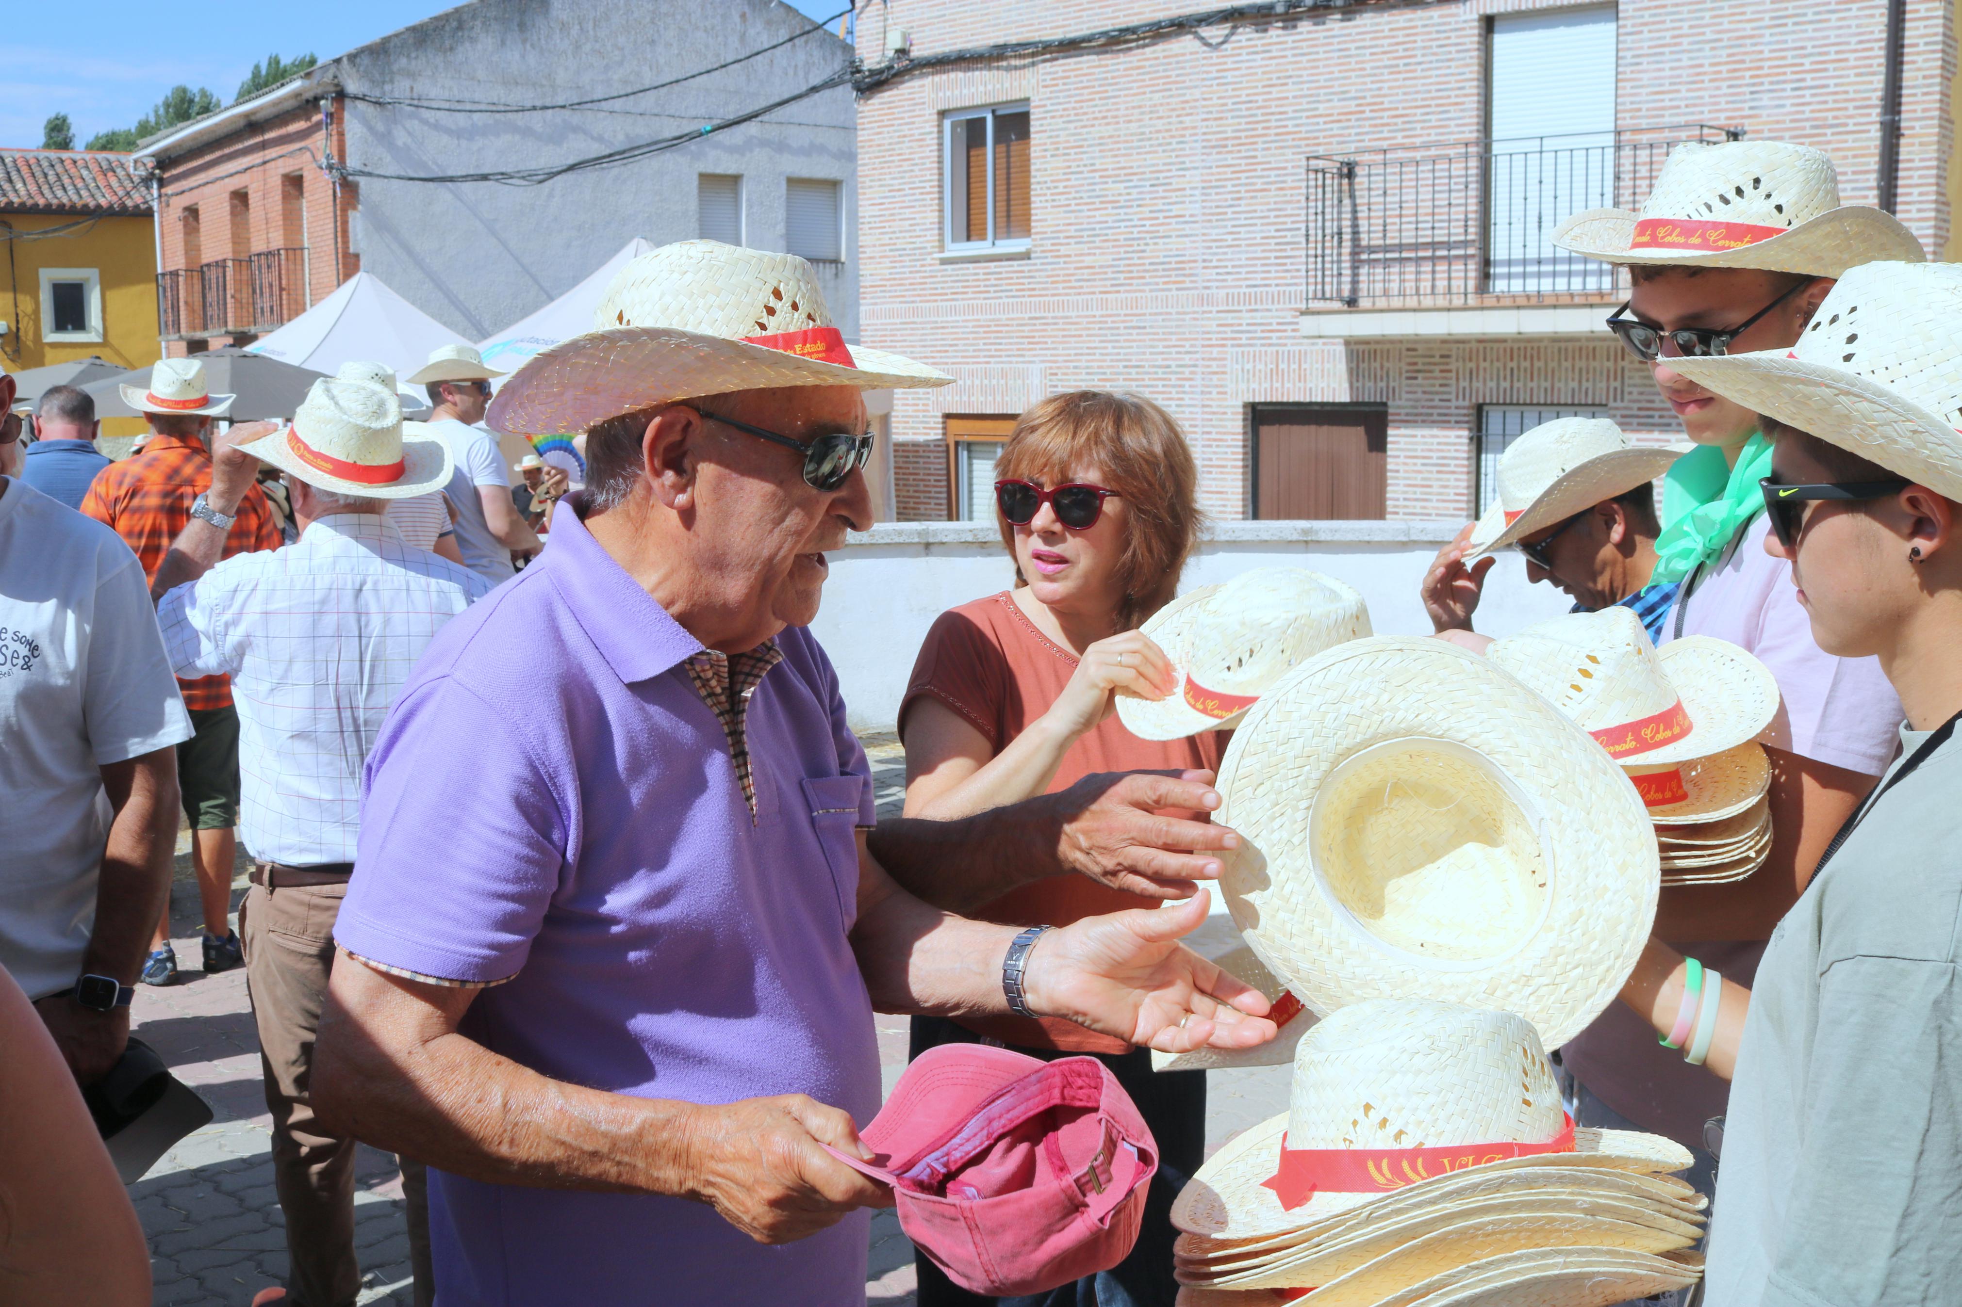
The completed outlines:
{"type": "MultiPolygon", "coordinates": [[[[294,1303],[353,1303],[355,1140],[308,1097],[334,919],[353,872],[361,768],[436,633],[489,584],[410,547],[383,509],[449,478],[447,447],[404,423],[394,392],[318,380],[292,425],[218,439],[208,506],[228,517],[259,462],[284,472],[300,539],[218,560],[226,531],[192,519],[159,568],[157,617],[179,674],[239,686],[239,827],[253,856],[239,907],[245,976],[273,1113],[294,1303]],[[408,431],[404,431],[408,427],[408,431]]],[[[422,1168],[402,1164],[418,1301],[430,1301],[422,1168]]],[[[279,1301],[261,1295],[263,1301],[279,1301]]]]}

